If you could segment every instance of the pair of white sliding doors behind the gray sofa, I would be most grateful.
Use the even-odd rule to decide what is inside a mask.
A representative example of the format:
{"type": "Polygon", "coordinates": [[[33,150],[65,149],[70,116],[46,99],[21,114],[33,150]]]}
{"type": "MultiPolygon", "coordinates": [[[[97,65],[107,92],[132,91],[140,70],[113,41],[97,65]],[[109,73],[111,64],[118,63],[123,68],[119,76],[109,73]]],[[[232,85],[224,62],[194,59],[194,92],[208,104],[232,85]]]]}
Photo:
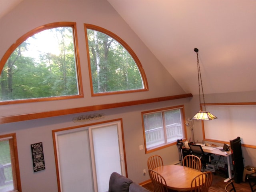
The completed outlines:
{"type": "Polygon", "coordinates": [[[126,175],[121,121],[55,132],[60,192],[108,191],[110,174],[126,175]]]}

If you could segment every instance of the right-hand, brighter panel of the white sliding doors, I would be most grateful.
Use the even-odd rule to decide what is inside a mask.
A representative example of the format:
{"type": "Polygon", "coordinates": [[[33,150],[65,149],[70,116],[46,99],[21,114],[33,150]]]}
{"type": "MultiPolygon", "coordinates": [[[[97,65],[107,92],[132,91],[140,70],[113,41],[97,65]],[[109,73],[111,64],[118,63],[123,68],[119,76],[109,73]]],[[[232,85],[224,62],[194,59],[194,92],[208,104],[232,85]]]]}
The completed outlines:
{"type": "Polygon", "coordinates": [[[112,172],[126,175],[122,126],[120,121],[88,127],[94,191],[108,191],[112,172]]]}

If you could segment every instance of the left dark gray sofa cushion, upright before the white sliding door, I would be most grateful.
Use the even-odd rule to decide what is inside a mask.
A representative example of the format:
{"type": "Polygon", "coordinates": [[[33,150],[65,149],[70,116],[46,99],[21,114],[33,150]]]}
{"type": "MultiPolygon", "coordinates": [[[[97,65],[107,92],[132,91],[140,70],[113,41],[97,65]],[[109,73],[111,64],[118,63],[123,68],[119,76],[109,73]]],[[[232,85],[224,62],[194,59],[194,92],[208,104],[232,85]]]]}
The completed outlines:
{"type": "Polygon", "coordinates": [[[116,172],[110,175],[108,192],[128,192],[132,180],[116,172]]]}

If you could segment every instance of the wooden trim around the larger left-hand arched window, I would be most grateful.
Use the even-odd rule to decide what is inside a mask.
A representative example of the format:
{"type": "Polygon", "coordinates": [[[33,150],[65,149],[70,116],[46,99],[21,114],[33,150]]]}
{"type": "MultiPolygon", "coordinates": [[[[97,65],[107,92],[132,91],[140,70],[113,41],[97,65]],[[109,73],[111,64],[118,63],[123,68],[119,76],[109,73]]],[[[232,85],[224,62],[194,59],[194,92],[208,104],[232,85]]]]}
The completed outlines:
{"type": "Polygon", "coordinates": [[[73,29],[73,36],[74,36],[74,53],[76,59],[76,70],[77,70],[77,81],[78,81],[78,95],[72,96],[57,96],[57,97],[47,97],[47,98],[32,98],[32,99],[21,99],[21,100],[8,100],[8,101],[1,101],[0,105],[4,104],[16,104],[16,103],[29,103],[29,102],[39,102],[39,101],[50,101],[50,100],[64,100],[64,99],[72,99],[72,98],[82,98],[84,97],[83,87],[82,87],[82,75],[80,70],[80,59],[79,59],[79,50],[78,50],[78,38],[77,38],[77,30],[76,30],[76,22],[54,22],[39,26],[34,28],[33,30],[27,32],[23,36],[21,36],[14,44],[10,46],[10,48],[6,51],[2,59],[0,60],[0,74],[6,64],[6,61],[14,52],[14,50],[22,44],[25,40],[27,40],[30,36],[38,32],[42,32],[47,29],[57,28],[57,27],[72,27],[73,29]]]}

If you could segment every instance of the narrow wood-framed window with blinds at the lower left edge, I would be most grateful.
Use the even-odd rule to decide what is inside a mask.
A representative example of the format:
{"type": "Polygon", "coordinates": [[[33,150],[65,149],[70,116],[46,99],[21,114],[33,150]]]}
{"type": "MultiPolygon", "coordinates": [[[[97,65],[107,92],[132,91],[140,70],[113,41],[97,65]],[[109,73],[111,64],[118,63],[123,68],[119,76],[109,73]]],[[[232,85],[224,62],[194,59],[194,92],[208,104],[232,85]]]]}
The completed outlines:
{"type": "Polygon", "coordinates": [[[21,192],[16,134],[0,135],[0,191],[21,192]]]}

